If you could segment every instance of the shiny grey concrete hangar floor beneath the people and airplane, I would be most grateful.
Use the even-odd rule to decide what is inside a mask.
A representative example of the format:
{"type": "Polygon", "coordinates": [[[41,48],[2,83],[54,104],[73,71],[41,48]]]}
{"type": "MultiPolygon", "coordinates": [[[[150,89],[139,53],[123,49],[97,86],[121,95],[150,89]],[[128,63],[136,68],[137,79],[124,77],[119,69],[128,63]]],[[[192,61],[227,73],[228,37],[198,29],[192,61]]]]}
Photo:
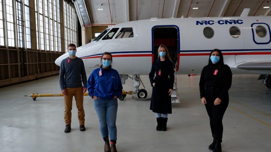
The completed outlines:
{"type": "MultiPolygon", "coordinates": [[[[168,130],[156,131],[150,101],[136,101],[131,95],[118,101],[117,149],[119,152],[210,152],[212,136],[209,118],[199,99],[199,75],[178,75],[181,103],[173,104],[168,130]]],[[[223,119],[223,152],[271,151],[271,90],[258,75],[233,75],[230,103],[223,119]]],[[[141,76],[151,96],[148,76],[141,76]]],[[[124,90],[132,87],[126,80],[124,90]]],[[[34,92],[60,93],[58,75],[0,88],[1,152],[99,152],[104,141],[93,107],[84,97],[86,131],[79,130],[73,100],[72,131],[64,133],[63,97],[24,97],[34,92]]]]}

